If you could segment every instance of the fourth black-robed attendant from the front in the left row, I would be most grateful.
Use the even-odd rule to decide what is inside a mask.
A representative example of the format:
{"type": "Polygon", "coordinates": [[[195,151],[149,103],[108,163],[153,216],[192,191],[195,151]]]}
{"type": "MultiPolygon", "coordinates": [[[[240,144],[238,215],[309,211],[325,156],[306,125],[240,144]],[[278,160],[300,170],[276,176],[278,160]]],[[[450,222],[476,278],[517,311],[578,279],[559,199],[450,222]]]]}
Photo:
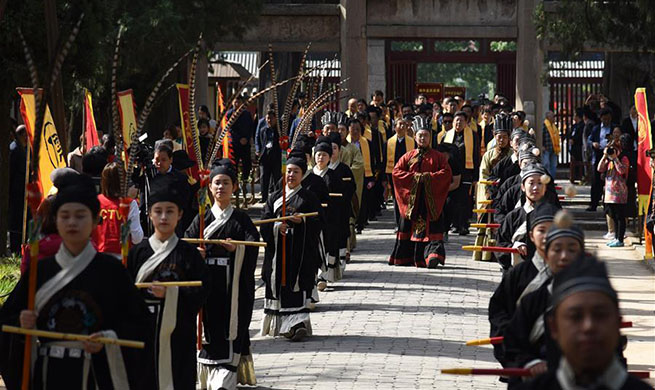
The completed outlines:
{"type": "MultiPolygon", "coordinates": [[[[303,158],[292,157],[287,161],[285,192],[276,191],[269,197],[262,219],[282,216],[283,197],[286,198],[285,216],[319,212],[319,200],[301,184],[306,170],[307,162],[303,158]]],[[[261,334],[283,335],[300,341],[312,333],[309,310],[320,257],[320,218],[295,216],[263,224],[260,231],[267,243],[262,267],[266,292],[261,334]],[[285,251],[283,242],[286,242],[285,251]]]]}

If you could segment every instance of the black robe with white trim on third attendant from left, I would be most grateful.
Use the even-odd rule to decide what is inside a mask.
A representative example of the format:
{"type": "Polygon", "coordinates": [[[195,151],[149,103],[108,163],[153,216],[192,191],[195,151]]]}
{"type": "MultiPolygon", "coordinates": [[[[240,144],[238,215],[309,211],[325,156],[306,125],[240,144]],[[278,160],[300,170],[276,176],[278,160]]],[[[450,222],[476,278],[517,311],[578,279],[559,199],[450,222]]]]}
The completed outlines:
{"type": "MultiPolygon", "coordinates": [[[[211,209],[207,209],[204,219],[206,229],[216,219],[211,209]]],[[[185,235],[200,237],[198,216],[185,235]]],[[[259,241],[259,232],[248,214],[233,209],[228,220],[210,237],[204,238],[259,241]]],[[[205,250],[211,290],[202,308],[203,343],[198,362],[208,368],[236,372],[241,360],[251,359],[248,328],[255,303],[255,269],[259,248],[244,247],[241,264],[236,262],[236,251],[228,252],[222,245],[206,245],[205,250]],[[230,335],[231,324],[234,322],[236,334],[233,330],[230,335]]]]}

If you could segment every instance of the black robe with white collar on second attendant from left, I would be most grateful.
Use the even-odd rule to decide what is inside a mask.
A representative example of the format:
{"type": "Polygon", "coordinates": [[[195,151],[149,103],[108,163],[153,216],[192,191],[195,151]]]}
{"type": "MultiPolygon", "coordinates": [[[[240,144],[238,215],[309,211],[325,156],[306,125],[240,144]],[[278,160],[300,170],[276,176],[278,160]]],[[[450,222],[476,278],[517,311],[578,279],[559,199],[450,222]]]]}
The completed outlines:
{"type": "MultiPolygon", "coordinates": [[[[154,254],[149,240],[143,240],[130,250],[127,258],[127,269],[136,280],[139,269],[154,254]]],[[[196,383],[196,317],[200,307],[205,303],[210,288],[207,267],[200,252],[191,244],[179,240],[173,251],[143,280],[152,281],[202,281],[202,287],[168,287],[178,289],[177,316],[175,328],[170,334],[170,347],[166,350],[162,345],[160,335],[167,327],[163,318],[166,299],[157,298],[148,289],[141,289],[152,320],[155,325],[156,348],[150,357],[154,370],[151,375],[152,384],[156,386],[162,373],[159,372],[159,361],[163,354],[170,353],[172,380],[176,389],[194,389],[196,383]],[[170,351],[170,352],[169,352],[170,351]]],[[[167,293],[168,294],[168,293],[167,293]]],[[[167,374],[164,374],[167,375],[167,374]]],[[[159,383],[159,388],[163,384],[159,383]]]]}

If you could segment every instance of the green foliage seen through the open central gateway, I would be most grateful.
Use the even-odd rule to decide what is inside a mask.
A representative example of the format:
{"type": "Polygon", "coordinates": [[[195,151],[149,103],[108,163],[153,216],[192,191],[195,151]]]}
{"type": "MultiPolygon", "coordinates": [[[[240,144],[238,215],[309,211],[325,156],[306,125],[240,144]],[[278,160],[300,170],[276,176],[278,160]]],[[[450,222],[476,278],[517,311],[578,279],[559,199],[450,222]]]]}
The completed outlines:
{"type": "Polygon", "coordinates": [[[481,93],[493,96],[496,90],[496,65],[420,63],[416,81],[466,87],[467,98],[476,98],[481,93]]]}

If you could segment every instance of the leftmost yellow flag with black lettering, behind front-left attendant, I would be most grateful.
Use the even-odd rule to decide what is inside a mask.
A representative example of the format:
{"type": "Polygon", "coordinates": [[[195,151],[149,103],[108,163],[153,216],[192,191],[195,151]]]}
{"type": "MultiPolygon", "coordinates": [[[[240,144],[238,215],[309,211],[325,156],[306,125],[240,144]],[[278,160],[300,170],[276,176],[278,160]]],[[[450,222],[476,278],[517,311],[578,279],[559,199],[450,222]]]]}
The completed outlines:
{"type": "MultiPolygon", "coordinates": [[[[27,128],[30,144],[34,145],[33,129],[34,121],[36,120],[34,93],[31,88],[18,88],[18,93],[21,97],[20,113],[27,128]]],[[[37,169],[42,194],[47,195],[52,189],[50,173],[57,168],[64,168],[65,166],[64,150],[61,147],[61,142],[59,142],[59,135],[55,128],[55,122],[52,120],[50,108],[46,106],[39,147],[39,166],[37,169]]]]}

